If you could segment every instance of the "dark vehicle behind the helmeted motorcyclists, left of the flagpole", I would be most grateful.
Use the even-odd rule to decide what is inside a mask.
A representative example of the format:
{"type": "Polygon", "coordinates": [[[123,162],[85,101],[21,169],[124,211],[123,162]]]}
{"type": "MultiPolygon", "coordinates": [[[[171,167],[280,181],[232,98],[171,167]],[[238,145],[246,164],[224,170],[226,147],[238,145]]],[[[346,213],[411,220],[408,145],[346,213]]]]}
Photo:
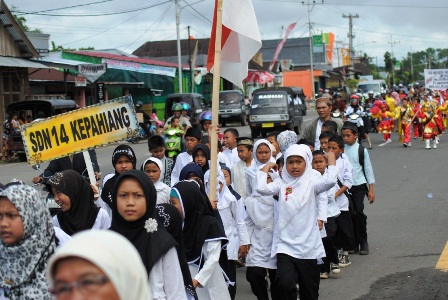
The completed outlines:
{"type": "Polygon", "coordinates": [[[188,103],[190,105],[190,123],[192,126],[199,124],[199,115],[208,109],[204,96],[197,93],[170,94],[166,97],[165,120],[173,115],[171,107],[174,103],[188,103]]]}

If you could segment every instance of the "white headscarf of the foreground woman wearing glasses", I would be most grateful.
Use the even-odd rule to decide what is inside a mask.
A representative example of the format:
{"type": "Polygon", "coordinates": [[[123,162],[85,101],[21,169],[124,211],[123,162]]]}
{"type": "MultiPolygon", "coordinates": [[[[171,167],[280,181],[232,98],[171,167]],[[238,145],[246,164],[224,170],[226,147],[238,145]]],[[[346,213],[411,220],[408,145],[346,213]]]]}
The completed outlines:
{"type": "Polygon", "coordinates": [[[100,268],[122,300],[152,299],[148,275],[140,255],[134,246],[118,233],[109,230],[88,230],[73,235],[50,259],[50,286],[54,283],[56,263],[67,257],[83,258],[100,268]]]}

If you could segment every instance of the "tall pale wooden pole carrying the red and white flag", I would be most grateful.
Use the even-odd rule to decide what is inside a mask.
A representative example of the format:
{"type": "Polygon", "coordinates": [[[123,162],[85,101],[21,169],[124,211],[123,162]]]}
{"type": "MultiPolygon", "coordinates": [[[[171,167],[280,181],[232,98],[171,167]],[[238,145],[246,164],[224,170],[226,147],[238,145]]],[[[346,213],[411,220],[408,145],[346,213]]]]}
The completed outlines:
{"type": "Polygon", "coordinates": [[[213,91],[212,91],[212,132],[210,136],[210,200],[218,200],[216,195],[217,161],[218,161],[218,127],[219,118],[219,88],[221,83],[221,38],[222,38],[222,2],[216,1],[216,39],[215,61],[213,66],[213,91]]]}

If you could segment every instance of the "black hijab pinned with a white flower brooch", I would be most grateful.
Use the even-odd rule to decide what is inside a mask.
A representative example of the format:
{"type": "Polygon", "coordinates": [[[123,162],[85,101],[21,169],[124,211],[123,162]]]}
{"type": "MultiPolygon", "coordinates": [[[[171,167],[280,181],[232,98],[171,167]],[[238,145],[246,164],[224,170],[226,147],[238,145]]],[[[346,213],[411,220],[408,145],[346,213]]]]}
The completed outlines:
{"type": "Polygon", "coordinates": [[[156,212],[157,192],[148,175],[142,171],[129,170],[118,176],[112,193],[112,225],[111,230],[126,237],[137,248],[146,271],[151,273],[152,267],[168,252],[176,246],[173,237],[158,222],[156,212]],[[133,178],[138,181],[145,193],[146,212],[140,219],[129,222],[118,212],[117,190],[121,181],[133,178]],[[154,231],[146,229],[147,224],[156,226],[154,231]],[[152,231],[152,232],[151,232],[152,231]]]}

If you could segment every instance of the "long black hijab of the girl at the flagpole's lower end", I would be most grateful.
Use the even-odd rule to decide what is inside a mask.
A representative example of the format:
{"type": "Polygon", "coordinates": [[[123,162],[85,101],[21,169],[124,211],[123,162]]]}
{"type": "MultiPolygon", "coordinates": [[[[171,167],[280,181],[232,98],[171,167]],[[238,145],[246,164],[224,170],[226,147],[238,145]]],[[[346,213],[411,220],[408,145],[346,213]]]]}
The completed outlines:
{"type": "Polygon", "coordinates": [[[201,193],[196,181],[178,182],[173,190],[179,196],[184,212],[183,238],[187,261],[199,264],[204,243],[221,240],[224,246],[227,243],[226,235],[210,201],[201,193]]]}

